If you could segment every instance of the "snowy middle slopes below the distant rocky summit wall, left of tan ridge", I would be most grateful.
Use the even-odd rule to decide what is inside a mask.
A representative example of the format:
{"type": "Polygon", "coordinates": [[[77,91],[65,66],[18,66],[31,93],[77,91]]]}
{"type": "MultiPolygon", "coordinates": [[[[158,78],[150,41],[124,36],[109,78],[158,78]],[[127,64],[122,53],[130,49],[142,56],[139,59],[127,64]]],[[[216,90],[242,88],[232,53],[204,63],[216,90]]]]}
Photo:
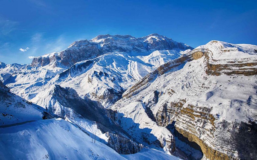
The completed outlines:
{"type": "Polygon", "coordinates": [[[142,77],[154,71],[160,64],[180,55],[177,50],[169,52],[176,53],[176,56],[164,54],[144,58],[129,56],[124,52],[107,53],[95,59],[78,62],[64,71],[58,68],[49,70],[47,66],[24,66],[6,83],[9,82],[7,86],[12,92],[29,101],[34,101],[33,98],[38,93],[52,84],[59,84],[72,87],[80,96],[89,96],[90,99],[100,101],[103,106],[108,107],[142,77]],[[141,59],[154,59],[151,62],[153,65],[141,59]]]}

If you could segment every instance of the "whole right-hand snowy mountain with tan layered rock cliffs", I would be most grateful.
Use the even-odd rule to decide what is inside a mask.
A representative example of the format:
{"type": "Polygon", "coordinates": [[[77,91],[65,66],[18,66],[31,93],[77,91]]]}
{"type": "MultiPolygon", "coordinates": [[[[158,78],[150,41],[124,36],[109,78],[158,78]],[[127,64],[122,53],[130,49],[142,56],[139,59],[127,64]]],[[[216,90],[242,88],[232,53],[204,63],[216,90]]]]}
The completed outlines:
{"type": "Polygon", "coordinates": [[[156,125],[173,130],[209,159],[256,159],[256,51],[211,41],[146,75],[111,109],[124,130],[132,118],[151,133],[156,125]]]}

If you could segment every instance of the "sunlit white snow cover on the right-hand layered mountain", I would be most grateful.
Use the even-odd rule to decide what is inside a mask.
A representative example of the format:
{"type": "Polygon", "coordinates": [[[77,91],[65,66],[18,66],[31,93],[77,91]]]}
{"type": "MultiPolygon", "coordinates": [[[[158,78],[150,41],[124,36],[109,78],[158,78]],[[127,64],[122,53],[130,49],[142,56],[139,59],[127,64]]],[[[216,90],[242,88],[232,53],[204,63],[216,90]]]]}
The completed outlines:
{"type": "MultiPolygon", "coordinates": [[[[209,50],[212,55],[212,58],[210,58],[211,63],[228,64],[232,60],[254,62],[257,59],[255,48],[256,46],[253,45],[233,45],[211,41],[207,45],[197,47],[192,53],[202,49],[209,50]],[[218,59],[218,61],[212,61],[214,58],[218,59]]],[[[143,112],[145,112],[146,107],[150,107],[153,115],[157,115],[158,112],[162,111],[163,106],[171,106],[171,102],[178,102],[181,99],[185,100],[184,108],[188,107],[188,105],[196,106],[194,112],[196,115],[201,115],[199,114],[199,112],[202,112],[200,108],[210,109],[210,114],[215,118],[215,128],[219,128],[224,120],[229,123],[257,121],[257,76],[207,75],[206,63],[206,59],[203,56],[200,59],[182,63],[163,75],[152,75],[153,77],[156,76],[153,80],[142,85],[136,91],[128,89],[123,96],[127,93],[129,93],[129,96],[120,99],[111,108],[117,109],[119,114],[124,114],[124,117],[131,118],[134,122],[139,123],[138,125],[142,126],[142,129],[152,128],[155,125],[153,123],[149,123],[149,126],[145,125],[148,116],[143,112]],[[155,102],[156,98],[154,98],[155,91],[159,93],[157,102],[155,102]],[[138,112],[138,110],[142,111],[138,112]]],[[[241,69],[241,67],[234,69],[241,69]]],[[[144,78],[142,81],[147,80],[147,78],[144,78]]],[[[171,113],[172,117],[169,117],[171,120],[193,123],[192,129],[195,132],[192,133],[208,146],[221,152],[236,154],[236,152],[231,152],[230,146],[221,147],[223,142],[216,138],[215,131],[213,131],[215,136],[208,133],[212,130],[212,124],[203,124],[200,119],[199,121],[197,119],[189,121],[188,117],[179,112],[177,116],[173,115],[176,114],[171,113]]],[[[186,124],[179,122],[176,122],[176,127],[189,133],[191,132],[191,129],[186,124]]],[[[154,132],[154,129],[152,131],[154,132]]],[[[224,131],[224,135],[227,136],[229,133],[224,131]]]]}

